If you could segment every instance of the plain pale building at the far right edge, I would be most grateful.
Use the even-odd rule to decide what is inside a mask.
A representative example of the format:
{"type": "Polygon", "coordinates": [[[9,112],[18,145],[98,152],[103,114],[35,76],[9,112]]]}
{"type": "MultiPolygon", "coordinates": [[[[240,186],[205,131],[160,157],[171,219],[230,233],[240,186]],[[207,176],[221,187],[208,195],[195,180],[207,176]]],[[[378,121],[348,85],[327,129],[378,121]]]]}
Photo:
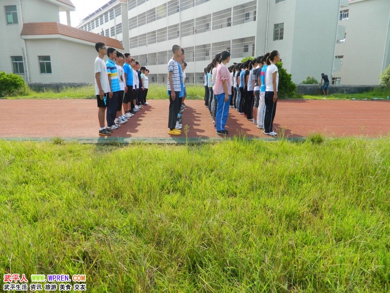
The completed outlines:
{"type": "Polygon", "coordinates": [[[390,65],[390,1],[350,0],[337,40],[332,84],[379,84],[390,65]]]}

